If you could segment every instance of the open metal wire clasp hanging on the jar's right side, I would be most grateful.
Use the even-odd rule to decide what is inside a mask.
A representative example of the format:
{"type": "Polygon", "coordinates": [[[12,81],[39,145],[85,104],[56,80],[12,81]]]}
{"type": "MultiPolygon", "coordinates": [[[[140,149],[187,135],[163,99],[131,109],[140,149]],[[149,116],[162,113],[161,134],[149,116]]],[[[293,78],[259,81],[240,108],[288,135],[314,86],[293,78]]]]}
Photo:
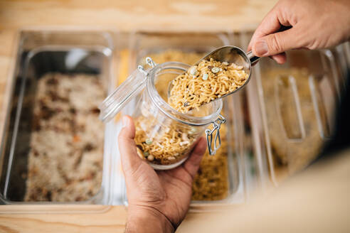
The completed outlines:
{"type": "Polygon", "coordinates": [[[224,124],[226,122],[225,117],[223,117],[221,114],[218,116],[218,118],[213,121],[213,129],[206,129],[206,142],[208,143],[208,151],[209,155],[213,156],[216,154],[216,151],[218,151],[218,148],[221,146],[221,137],[220,137],[220,127],[221,124],[224,124]],[[215,133],[215,136],[213,134],[215,133]],[[214,141],[213,141],[214,138],[214,141]],[[213,148],[212,144],[214,142],[213,148]]]}

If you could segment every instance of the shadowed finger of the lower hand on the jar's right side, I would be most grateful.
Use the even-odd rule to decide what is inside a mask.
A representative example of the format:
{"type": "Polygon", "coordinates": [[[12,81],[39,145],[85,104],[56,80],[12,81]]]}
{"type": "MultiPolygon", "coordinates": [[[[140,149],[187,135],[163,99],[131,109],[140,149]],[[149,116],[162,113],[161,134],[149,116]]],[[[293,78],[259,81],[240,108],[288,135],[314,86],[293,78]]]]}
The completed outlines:
{"type": "Polygon", "coordinates": [[[184,163],[184,168],[193,178],[196,175],[199,165],[201,164],[201,159],[203,153],[206,151],[206,139],[201,137],[196,147],[193,149],[190,158],[184,163]]]}

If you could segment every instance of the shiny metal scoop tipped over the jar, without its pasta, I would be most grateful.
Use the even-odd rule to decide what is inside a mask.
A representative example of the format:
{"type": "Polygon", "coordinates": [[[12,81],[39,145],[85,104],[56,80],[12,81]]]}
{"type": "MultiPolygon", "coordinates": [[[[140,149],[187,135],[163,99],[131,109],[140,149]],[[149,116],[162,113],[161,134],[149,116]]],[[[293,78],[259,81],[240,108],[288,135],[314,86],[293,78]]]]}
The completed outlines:
{"type": "MultiPolygon", "coordinates": [[[[223,62],[235,63],[236,65],[243,66],[243,70],[245,71],[245,73],[248,74],[248,79],[245,81],[244,85],[234,90],[233,92],[224,94],[223,96],[217,99],[227,97],[229,94],[233,94],[235,92],[238,92],[239,90],[242,90],[242,88],[245,85],[247,85],[250,80],[250,73],[252,71],[252,66],[255,65],[255,63],[257,63],[258,60],[260,60],[260,58],[253,55],[251,51],[249,53],[245,53],[242,49],[238,47],[235,47],[233,45],[227,45],[227,46],[217,48],[216,50],[213,50],[211,53],[208,53],[208,55],[206,55],[204,58],[202,58],[201,60],[198,60],[198,62],[195,65],[198,65],[199,63],[201,63],[202,60],[210,60],[211,58],[221,63],[223,62]]],[[[170,91],[172,88],[173,88],[172,82],[169,82],[168,97],[170,97],[170,91]]]]}

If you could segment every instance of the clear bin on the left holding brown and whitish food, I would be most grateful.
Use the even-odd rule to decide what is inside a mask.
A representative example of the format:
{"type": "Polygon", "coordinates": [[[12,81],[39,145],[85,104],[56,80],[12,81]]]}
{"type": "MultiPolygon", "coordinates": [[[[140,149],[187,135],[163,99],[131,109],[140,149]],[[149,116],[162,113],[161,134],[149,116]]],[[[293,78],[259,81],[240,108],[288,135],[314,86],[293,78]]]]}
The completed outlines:
{"type": "Polygon", "coordinates": [[[34,210],[14,207],[14,212],[57,212],[60,205],[85,212],[112,203],[115,141],[108,135],[113,128],[95,128],[100,126],[98,99],[115,85],[116,39],[117,33],[107,31],[19,33],[3,105],[1,204],[38,204],[34,210]]]}

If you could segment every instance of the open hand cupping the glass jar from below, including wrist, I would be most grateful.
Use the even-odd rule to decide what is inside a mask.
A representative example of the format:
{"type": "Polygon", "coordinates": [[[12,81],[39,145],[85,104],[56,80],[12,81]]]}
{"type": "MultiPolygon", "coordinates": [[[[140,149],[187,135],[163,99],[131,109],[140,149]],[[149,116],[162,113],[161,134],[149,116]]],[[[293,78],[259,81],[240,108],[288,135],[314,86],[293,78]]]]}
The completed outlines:
{"type": "Polygon", "coordinates": [[[122,121],[118,143],[129,201],[126,232],[174,232],[189,209],[206,141],[201,138],[181,166],[156,171],[137,155],[132,118],[122,121]]]}

